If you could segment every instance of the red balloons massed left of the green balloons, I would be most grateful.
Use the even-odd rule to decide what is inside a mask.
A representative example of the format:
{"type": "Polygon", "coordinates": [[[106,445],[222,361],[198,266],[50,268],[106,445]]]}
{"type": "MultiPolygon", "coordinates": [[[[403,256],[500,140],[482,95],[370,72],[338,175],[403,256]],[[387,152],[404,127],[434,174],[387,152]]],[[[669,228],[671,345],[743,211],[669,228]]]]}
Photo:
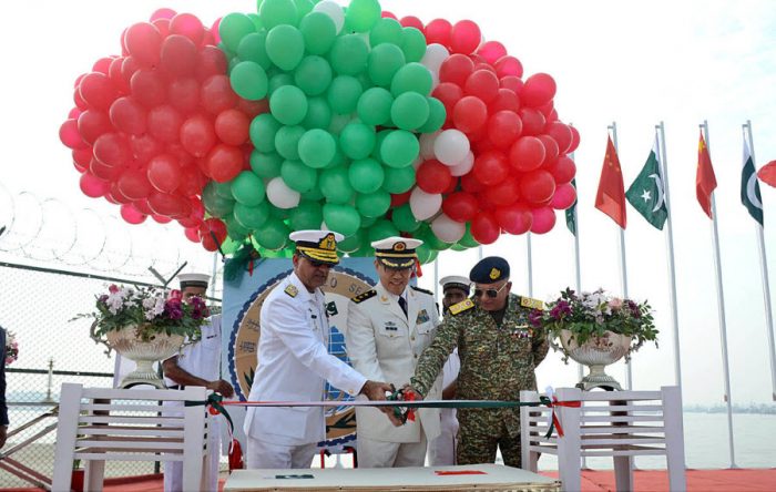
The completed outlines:
{"type": "Polygon", "coordinates": [[[246,165],[248,125],[266,104],[234,93],[213,30],[191,13],[160,9],[127,28],[121,44],[121,57],[78,78],[75,107],[60,127],[81,191],[120,205],[131,224],[175,219],[215,250],[226,228],[205,217],[200,196],[210,180],[228,181],[246,165]]]}

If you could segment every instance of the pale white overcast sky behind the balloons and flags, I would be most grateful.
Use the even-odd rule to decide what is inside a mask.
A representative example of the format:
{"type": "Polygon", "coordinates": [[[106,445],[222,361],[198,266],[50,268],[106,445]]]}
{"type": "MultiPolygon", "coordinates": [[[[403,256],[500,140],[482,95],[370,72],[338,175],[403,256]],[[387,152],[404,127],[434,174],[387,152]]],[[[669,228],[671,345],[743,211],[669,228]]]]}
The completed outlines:
{"type": "MultiPolygon", "coordinates": [[[[769,349],[755,222],[741,205],[742,124],[751,121],[757,167],[776,158],[776,9],[768,0],[728,2],[543,1],[479,2],[385,0],[385,10],[425,22],[446,18],[476,21],[486,40],[504,44],[525,74],[545,72],[558,83],[555,109],[580,131],[578,166],[581,287],[622,294],[616,225],[593,207],[606,143],[616,123],[625,187],[652,148],[655,125],[665,126],[673,223],[683,397],[686,403],[723,404],[721,324],[712,247],[712,222],[695,199],[698,124],[707,121],[715,193],[732,400],[772,401],[769,349]]],[[[53,0],[3,2],[0,30],[0,219],[21,217],[0,247],[40,228],[43,238],[65,237],[78,250],[102,249],[167,255],[207,267],[212,256],[188,245],[180,229],[144,224],[124,227],[118,208],[90,199],[78,187],[59,126],[72,107],[75,78],[101,57],[120,51],[122,30],[162,7],[196,14],[210,25],[232,11],[253,12],[254,1],[53,0]],[[42,204],[42,205],[38,205],[42,204]],[[11,208],[11,205],[13,208],[11,208]],[[88,212],[84,212],[88,209],[88,212]],[[10,212],[9,212],[10,211],[10,212]],[[25,224],[25,225],[23,225],[25,224]],[[37,226],[38,225],[38,226],[37,226]],[[74,227],[78,225],[78,227],[74,227]],[[74,234],[73,230],[79,233],[74,234]],[[105,234],[110,229],[110,234],[105,234]],[[123,248],[123,249],[122,249],[123,248]]],[[[760,184],[765,250],[776,268],[774,189],[760,184]]],[[[625,233],[627,291],[647,299],[661,330],[660,348],[634,355],[634,388],[675,383],[674,328],[666,232],[650,226],[629,206],[625,233]]],[[[67,243],[65,240],[65,243],[67,243]]],[[[528,239],[503,236],[481,254],[502,255],[512,266],[513,290],[548,300],[575,287],[574,242],[559,215],[549,234],[528,239]]],[[[442,253],[439,277],[467,275],[480,252],[442,253]]],[[[118,256],[121,256],[119,254],[118,256]]],[[[120,263],[120,260],[118,260],[120,263]]],[[[109,265],[110,266],[110,265],[109,265]]],[[[420,285],[435,288],[435,267],[420,285]]],[[[0,280],[1,281],[1,280],[0,280]]],[[[773,290],[773,289],[772,289],[773,290]]],[[[773,293],[772,293],[772,297],[773,293]]],[[[610,372],[624,382],[623,365],[610,372]]],[[[571,386],[576,367],[550,353],[539,386],[571,386]]]]}

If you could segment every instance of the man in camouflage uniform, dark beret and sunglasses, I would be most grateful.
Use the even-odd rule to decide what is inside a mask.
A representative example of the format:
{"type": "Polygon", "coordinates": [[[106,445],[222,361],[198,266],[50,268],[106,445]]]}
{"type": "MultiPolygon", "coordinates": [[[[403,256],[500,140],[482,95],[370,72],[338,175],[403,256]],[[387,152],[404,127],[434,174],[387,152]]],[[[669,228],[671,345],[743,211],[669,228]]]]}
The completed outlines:
{"type": "MultiPolygon", "coordinates": [[[[466,299],[450,307],[420,356],[411,388],[426,396],[458,347],[457,399],[518,401],[520,391],[537,389],[534,369],[549,348],[544,331],[530,319],[542,303],[510,294],[509,264],[503,258],[483,258],[469,278],[478,303],[466,299]]],[[[458,421],[458,464],[492,463],[499,447],[504,464],[520,468],[519,408],[459,409],[458,421]]]]}

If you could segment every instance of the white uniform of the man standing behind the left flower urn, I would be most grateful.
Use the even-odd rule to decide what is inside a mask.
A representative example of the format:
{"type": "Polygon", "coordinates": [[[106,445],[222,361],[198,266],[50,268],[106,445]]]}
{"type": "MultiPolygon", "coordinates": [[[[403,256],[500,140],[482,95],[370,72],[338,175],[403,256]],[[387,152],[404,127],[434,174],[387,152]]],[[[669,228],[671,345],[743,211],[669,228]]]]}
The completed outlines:
{"type": "MultiPolygon", "coordinates": [[[[221,379],[221,315],[213,316],[210,322],[202,326],[202,339],[187,345],[177,356],[177,366],[192,376],[206,381],[221,379]]],[[[177,382],[164,378],[167,387],[177,386],[177,382]]],[[[165,402],[166,407],[183,407],[183,402],[165,402]]],[[[207,432],[207,491],[218,490],[218,461],[221,458],[221,420],[222,416],[213,416],[210,419],[207,432]]],[[[164,490],[165,492],[180,492],[183,490],[183,462],[166,461],[164,463],[164,490]]]]}

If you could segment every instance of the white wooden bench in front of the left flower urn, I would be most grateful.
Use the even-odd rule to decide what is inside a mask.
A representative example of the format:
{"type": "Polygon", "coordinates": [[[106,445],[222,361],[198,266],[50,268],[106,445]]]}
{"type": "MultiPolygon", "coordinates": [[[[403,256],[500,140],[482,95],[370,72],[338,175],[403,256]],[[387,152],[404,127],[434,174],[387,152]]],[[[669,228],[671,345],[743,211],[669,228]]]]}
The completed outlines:
{"type": "Polygon", "coordinates": [[[114,460],[182,461],[183,489],[203,490],[210,414],[204,406],[162,403],[206,398],[198,387],[126,390],[63,383],[52,489],[69,491],[73,460],[81,460],[84,489],[101,491],[105,461],[114,460]]]}

